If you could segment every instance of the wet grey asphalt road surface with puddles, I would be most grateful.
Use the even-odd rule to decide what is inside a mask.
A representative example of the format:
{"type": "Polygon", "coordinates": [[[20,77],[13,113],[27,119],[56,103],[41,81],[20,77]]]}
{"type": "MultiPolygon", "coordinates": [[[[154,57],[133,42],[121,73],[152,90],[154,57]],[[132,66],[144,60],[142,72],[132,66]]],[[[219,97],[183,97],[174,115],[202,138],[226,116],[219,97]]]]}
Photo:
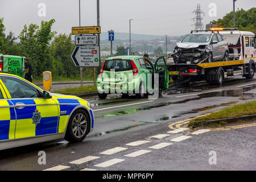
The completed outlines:
{"type": "Polygon", "coordinates": [[[138,100],[134,96],[122,99],[117,95],[107,97],[106,100],[86,98],[92,104],[96,119],[93,132],[83,142],[55,140],[0,151],[0,170],[43,170],[59,165],[67,167],[65,170],[255,170],[256,126],[208,131],[199,135],[187,131],[168,134],[168,137],[162,139],[150,138],[167,134],[171,131],[168,127],[170,123],[220,110],[235,103],[256,100],[254,83],[255,79],[246,80],[241,77],[225,80],[222,86],[200,82],[191,88],[177,90],[176,93],[166,93],[158,100],[138,100]],[[182,135],[190,138],[180,142],[170,141],[182,135]],[[126,145],[138,140],[147,143],[126,145]],[[160,143],[168,143],[168,146],[148,148],[160,143]],[[115,147],[122,147],[123,151],[112,155],[100,154],[115,147]],[[39,151],[46,152],[46,165],[38,164],[39,151]],[[146,153],[125,156],[136,151],[146,153]],[[217,164],[209,164],[210,151],[216,152],[217,164]],[[97,156],[98,159],[82,164],[70,163],[88,156],[97,156]],[[118,163],[109,167],[100,165],[113,159],[118,163]]]}

